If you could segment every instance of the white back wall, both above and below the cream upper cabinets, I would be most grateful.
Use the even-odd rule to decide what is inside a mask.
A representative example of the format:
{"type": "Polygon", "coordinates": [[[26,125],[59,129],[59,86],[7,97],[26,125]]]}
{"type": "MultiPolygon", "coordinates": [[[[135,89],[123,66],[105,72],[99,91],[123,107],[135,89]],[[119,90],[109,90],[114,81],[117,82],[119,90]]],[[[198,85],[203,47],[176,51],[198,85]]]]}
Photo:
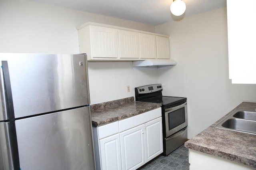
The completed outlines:
{"type": "MultiPolygon", "coordinates": [[[[76,28],[88,21],[155,32],[154,26],[137,22],[28,0],[0,0],[0,52],[79,53],[76,28]]],[[[157,70],[133,71],[132,62],[88,63],[88,72],[91,104],[134,96],[134,87],[158,81],[157,70]]]]}

